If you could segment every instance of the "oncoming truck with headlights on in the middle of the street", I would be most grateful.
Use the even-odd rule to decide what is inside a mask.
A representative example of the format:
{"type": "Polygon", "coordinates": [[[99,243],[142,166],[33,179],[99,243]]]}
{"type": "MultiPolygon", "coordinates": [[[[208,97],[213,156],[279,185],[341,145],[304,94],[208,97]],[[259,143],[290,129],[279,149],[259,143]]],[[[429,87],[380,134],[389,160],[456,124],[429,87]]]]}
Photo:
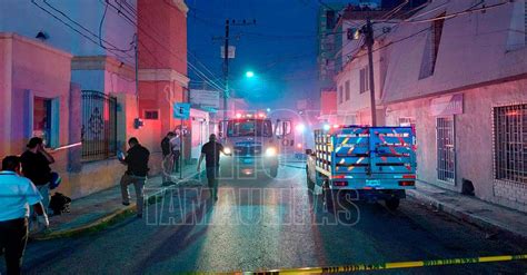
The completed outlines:
{"type": "Polygon", "coordinates": [[[265,112],[237,114],[221,121],[219,136],[225,153],[220,158],[220,174],[226,178],[265,173],[278,175],[279,147],[274,126],[265,112]]]}

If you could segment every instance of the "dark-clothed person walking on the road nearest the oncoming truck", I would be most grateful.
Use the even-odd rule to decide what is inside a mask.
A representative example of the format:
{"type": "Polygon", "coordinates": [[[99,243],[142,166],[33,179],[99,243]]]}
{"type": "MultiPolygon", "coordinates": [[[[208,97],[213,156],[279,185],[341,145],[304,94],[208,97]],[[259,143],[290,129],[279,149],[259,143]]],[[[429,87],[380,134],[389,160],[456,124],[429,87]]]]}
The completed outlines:
{"type": "Polygon", "coordinates": [[[199,156],[198,171],[201,171],[201,163],[205,158],[207,181],[211,190],[210,197],[218,200],[218,175],[219,175],[219,158],[220,153],[223,153],[223,146],[216,141],[216,135],[209,136],[209,141],[201,147],[201,156],[199,156]]]}

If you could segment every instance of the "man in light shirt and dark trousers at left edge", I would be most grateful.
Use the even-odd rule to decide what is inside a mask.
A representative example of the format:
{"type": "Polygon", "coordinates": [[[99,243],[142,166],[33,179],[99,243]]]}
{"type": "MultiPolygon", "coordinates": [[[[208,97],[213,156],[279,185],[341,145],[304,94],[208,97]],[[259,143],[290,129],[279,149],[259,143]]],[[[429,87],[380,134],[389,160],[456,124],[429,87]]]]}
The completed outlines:
{"type": "Polygon", "coordinates": [[[20,158],[6,157],[0,171],[0,249],[6,249],[7,274],[20,274],[28,240],[29,207],[39,215],[39,224],[49,226],[42,196],[31,180],[20,175],[20,158]]]}

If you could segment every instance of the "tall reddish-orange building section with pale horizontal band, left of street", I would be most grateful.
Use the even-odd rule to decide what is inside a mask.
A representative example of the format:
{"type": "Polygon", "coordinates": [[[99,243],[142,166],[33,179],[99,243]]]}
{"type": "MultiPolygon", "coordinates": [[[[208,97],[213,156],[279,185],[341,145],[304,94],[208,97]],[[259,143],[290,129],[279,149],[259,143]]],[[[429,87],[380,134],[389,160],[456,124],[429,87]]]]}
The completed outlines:
{"type": "Polygon", "coordinates": [[[143,118],[145,110],[159,110],[160,135],[149,143],[158,144],[180,125],[172,110],[173,104],[187,100],[187,11],[182,0],[138,0],[138,115],[143,118]]]}

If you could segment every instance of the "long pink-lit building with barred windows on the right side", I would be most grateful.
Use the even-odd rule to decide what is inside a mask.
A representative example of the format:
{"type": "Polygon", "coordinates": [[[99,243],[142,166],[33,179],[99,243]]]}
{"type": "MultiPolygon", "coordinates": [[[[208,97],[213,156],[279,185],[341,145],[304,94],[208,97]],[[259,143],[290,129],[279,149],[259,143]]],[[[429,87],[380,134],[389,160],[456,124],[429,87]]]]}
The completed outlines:
{"type": "MultiPolygon", "coordinates": [[[[526,212],[526,7],[485,4],[431,1],[376,41],[378,117],[415,126],[420,181],[459,193],[473,186],[480,199],[526,212]]],[[[339,75],[355,91],[340,109],[369,109],[360,76],[339,75]]]]}

